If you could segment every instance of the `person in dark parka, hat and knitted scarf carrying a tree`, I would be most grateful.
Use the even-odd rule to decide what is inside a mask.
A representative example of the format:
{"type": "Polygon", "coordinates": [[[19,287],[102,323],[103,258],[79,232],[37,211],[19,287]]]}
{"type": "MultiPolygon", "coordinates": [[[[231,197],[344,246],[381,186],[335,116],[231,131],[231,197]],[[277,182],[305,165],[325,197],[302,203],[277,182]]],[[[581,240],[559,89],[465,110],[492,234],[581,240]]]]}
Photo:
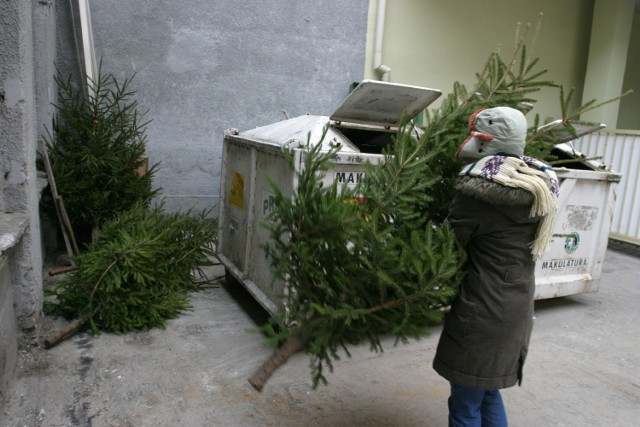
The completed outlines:
{"type": "Polygon", "coordinates": [[[499,389],[522,381],[533,322],[535,260],[548,248],[558,181],[524,156],[527,122],[513,108],[476,111],[456,153],[449,221],[468,256],[433,368],[451,383],[450,426],[506,426],[499,389]]]}

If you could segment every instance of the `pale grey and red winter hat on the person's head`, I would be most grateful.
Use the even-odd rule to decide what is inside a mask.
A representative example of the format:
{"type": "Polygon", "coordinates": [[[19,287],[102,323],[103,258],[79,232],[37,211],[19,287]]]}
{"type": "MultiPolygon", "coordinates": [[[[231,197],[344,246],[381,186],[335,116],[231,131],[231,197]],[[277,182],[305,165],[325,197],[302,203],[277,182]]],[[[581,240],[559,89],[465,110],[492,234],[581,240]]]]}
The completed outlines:
{"type": "Polygon", "coordinates": [[[464,140],[456,158],[478,160],[496,154],[522,156],[527,137],[527,119],[510,107],[494,107],[474,112],[469,118],[469,137],[464,140]]]}

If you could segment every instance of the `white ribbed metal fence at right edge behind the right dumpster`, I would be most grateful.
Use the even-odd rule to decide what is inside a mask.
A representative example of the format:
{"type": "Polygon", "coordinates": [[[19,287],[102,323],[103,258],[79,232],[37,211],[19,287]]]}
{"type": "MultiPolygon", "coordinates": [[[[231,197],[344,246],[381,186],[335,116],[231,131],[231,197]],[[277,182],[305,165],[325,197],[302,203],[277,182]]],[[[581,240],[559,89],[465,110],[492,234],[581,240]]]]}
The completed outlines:
{"type": "Polygon", "coordinates": [[[622,174],[610,237],[640,245],[640,131],[595,132],[573,141],[575,149],[622,174]]]}

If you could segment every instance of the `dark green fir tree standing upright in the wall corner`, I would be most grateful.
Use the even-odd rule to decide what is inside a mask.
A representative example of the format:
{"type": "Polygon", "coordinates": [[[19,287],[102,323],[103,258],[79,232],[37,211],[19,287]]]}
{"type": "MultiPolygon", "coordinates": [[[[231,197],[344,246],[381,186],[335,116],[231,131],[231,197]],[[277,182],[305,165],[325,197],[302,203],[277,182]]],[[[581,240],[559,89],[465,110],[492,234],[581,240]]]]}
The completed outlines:
{"type": "MultiPolygon", "coordinates": [[[[46,149],[78,240],[89,242],[103,221],[157,194],[152,190],[156,165],[138,172],[146,161],[148,122],[138,112],[131,79],[119,83],[102,65],[87,96],[70,79],[55,80],[58,102],[46,149]]],[[[54,216],[51,198],[43,203],[54,216]]]]}

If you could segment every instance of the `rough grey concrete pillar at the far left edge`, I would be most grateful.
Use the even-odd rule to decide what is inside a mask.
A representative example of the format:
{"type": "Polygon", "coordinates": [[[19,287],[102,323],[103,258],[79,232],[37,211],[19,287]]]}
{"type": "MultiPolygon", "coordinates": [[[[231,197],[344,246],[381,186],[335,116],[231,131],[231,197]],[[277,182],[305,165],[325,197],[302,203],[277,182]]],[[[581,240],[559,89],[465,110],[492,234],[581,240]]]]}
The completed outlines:
{"type": "MultiPolygon", "coordinates": [[[[36,12],[49,13],[47,2],[10,0],[1,3],[0,16],[0,213],[28,216],[24,237],[14,248],[14,303],[18,323],[34,330],[42,306],[42,253],[38,215],[36,146],[40,125],[36,113],[34,42],[47,37],[34,33],[36,12]],[[35,36],[34,36],[35,34],[35,36]],[[42,38],[41,38],[42,37],[42,38]]],[[[43,34],[40,34],[41,31],[43,34]]],[[[41,49],[39,49],[41,51],[41,49]]],[[[46,59],[45,59],[46,60],[46,59]]],[[[43,101],[48,104],[50,99],[43,101]]]]}

